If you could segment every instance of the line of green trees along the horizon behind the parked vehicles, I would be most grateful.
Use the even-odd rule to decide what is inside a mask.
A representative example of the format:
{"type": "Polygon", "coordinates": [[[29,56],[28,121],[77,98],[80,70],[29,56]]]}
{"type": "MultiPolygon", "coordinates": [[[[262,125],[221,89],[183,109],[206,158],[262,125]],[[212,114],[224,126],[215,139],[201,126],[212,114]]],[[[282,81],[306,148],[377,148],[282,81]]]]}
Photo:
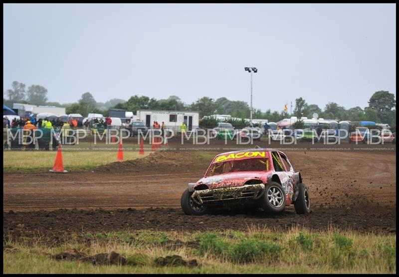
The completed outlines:
{"type": "MultiPolygon", "coordinates": [[[[54,105],[66,107],[66,113],[80,113],[87,116],[88,113],[101,113],[108,115],[110,108],[125,109],[136,113],[137,110],[170,110],[170,111],[197,111],[200,118],[211,114],[229,114],[237,118],[249,118],[250,107],[245,101],[231,101],[226,97],[212,99],[201,97],[197,101],[186,104],[178,96],[170,96],[167,99],[156,99],[148,96],[131,96],[127,101],[114,98],[105,103],[97,102],[90,92],[82,94],[76,103],[60,104],[58,102],[47,102],[47,89],[40,85],[31,85],[25,89],[25,84],[14,81],[12,89],[8,89],[4,94],[8,99],[3,99],[5,105],[12,103],[27,103],[33,105],[54,105]]],[[[335,102],[329,102],[322,110],[316,104],[308,104],[305,99],[299,97],[295,99],[295,108],[292,114],[281,111],[265,112],[254,109],[252,118],[267,119],[269,122],[277,122],[283,118],[297,116],[298,118],[312,118],[317,113],[319,118],[351,121],[375,121],[388,123],[396,127],[396,100],[395,95],[389,91],[376,91],[369,100],[369,106],[361,108],[359,106],[345,109],[335,102]]]]}

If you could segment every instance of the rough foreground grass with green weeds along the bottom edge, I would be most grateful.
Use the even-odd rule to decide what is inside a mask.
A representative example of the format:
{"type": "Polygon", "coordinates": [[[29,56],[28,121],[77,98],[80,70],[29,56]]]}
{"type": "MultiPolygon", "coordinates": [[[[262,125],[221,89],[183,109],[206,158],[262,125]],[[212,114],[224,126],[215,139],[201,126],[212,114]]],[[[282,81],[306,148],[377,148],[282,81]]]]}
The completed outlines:
{"type": "Polygon", "coordinates": [[[332,229],[84,233],[62,245],[47,245],[40,237],[3,241],[3,273],[396,273],[396,235],[332,229]],[[111,250],[121,254],[126,264],[52,258],[59,253],[89,257],[111,250]],[[158,264],[159,257],[172,255],[195,259],[198,266],[158,264]]]}

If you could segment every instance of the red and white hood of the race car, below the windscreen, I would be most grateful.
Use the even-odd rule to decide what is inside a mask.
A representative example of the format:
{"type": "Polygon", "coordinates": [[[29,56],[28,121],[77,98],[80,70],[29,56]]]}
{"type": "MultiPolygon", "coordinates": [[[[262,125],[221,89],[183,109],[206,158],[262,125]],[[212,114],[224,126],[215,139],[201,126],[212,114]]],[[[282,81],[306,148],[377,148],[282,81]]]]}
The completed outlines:
{"type": "Polygon", "coordinates": [[[248,180],[259,180],[268,174],[270,174],[270,172],[250,171],[203,177],[196,183],[195,187],[201,184],[207,185],[209,189],[239,187],[244,185],[248,180]]]}

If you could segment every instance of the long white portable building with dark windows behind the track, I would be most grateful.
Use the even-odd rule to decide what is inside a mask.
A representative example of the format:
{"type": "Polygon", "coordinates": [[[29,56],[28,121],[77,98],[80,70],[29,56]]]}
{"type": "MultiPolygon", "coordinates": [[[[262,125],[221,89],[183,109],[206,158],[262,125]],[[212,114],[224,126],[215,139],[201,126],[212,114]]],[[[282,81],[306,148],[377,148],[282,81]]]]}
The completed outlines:
{"type": "Polygon", "coordinates": [[[160,125],[165,125],[179,131],[179,126],[183,122],[187,125],[187,130],[196,129],[200,125],[200,114],[192,111],[160,111],[160,110],[137,110],[137,120],[141,120],[147,127],[152,127],[154,121],[160,125]]]}

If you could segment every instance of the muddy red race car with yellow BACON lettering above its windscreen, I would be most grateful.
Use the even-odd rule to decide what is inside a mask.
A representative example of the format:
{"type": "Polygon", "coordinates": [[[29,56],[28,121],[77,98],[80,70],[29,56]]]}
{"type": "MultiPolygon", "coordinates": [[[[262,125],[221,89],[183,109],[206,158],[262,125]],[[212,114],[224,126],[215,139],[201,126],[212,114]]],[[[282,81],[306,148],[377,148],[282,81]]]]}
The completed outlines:
{"type": "Polygon", "coordinates": [[[186,215],[247,205],[278,214],[291,204],[297,214],[310,213],[309,191],[301,174],[283,152],[260,148],[217,155],[205,175],[189,183],[181,197],[186,215]]]}

